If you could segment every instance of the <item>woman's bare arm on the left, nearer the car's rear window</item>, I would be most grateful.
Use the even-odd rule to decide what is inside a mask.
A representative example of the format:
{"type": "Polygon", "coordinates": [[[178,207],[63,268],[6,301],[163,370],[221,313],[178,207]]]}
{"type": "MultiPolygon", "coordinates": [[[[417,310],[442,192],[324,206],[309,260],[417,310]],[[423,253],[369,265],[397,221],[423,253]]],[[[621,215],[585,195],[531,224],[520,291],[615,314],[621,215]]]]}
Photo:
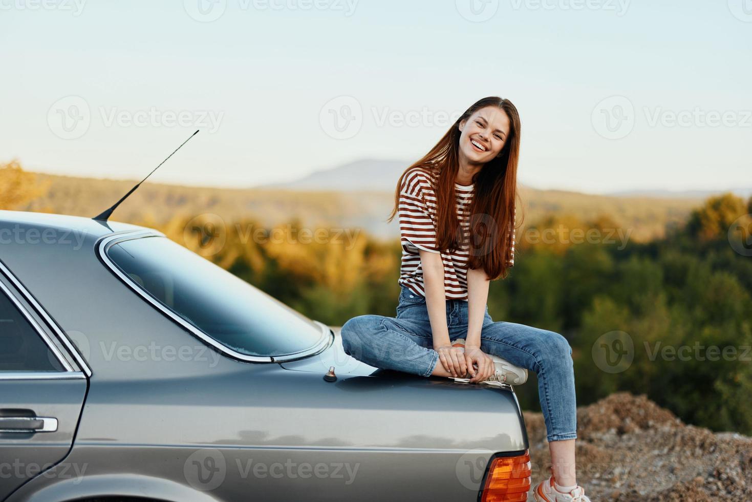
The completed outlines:
{"type": "Polygon", "coordinates": [[[444,370],[453,376],[465,376],[467,365],[462,349],[453,348],[447,327],[447,298],[444,290],[444,263],[441,254],[420,250],[423,285],[426,290],[426,309],[431,322],[433,349],[438,352],[444,370]]]}

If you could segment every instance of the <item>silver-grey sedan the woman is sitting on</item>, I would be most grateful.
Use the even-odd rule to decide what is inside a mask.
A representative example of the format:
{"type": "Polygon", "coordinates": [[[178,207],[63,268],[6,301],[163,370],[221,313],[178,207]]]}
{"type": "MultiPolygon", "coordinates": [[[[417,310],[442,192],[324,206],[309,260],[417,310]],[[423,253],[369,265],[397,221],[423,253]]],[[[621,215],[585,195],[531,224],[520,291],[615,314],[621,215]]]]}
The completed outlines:
{"type": "Polygon", "coordinates": [[[526,500],[512,388],[362,364],[156,230],[0,211],[0,260],[0,500],[526,500]]]}

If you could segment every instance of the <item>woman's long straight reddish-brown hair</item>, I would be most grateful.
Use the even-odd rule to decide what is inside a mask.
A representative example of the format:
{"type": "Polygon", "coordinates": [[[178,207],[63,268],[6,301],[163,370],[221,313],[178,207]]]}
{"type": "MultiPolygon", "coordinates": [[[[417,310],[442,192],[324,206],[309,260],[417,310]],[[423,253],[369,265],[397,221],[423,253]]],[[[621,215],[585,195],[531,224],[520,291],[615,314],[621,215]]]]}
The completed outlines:
{"type": "MultiPolygon", "coordinates": [[[[489,96],[478,100],[465,110],[436,145],[422,159],[412,164],[399,177],[394,193],[394,208],[387,221],[399,211],[399,187],[410,169],[431,170],[436,178],[433,187],[437,200],[436,247],[448,251],[465,243],[465,236],[456,215],[454,184],[459,171],[459,123],[469,119],[481,108],[496,106],[509,117],[509,134],[501,154],[485,163],[475,173],[472,182],[475,194],[470,207],[468,268],[483,267],[493,280],[507,276],[511,257],[511,230],[514,224],[514,204],[517,199],[517,162],[520,158],[520,114],[508,99],[489,96]],[[451,201],[451,203],[447,203],[451,201]]],[[[519,226],[520,218],[517,218],[519,226]]]]}

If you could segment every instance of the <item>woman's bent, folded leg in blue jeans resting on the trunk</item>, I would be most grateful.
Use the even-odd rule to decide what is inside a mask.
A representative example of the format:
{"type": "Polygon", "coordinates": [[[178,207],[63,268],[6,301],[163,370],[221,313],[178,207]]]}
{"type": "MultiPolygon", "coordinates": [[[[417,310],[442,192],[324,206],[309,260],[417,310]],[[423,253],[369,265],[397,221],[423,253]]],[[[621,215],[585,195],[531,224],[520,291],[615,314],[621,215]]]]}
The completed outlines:
{"type": "Polygon", "coordinates": [[[359,315],[342,325],[341,336],[346,354],[373,367],[420,376],[441,367],[430,324],[420,320],[359,315]]]}

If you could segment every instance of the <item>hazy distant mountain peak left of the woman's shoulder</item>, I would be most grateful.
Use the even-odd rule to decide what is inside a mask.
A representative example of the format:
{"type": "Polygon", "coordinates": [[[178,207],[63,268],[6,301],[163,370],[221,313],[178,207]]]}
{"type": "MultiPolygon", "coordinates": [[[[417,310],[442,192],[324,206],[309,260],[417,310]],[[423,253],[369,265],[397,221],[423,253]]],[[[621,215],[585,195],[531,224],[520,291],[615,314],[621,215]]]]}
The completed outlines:
{"type": "Polygon", "coordinates": [[[410,165],[411,162],[407,160],[356,160],[343,166],[312,172],[296,181],[265,184],[254,188],[393,192],[399,176],[410,165]]]}

